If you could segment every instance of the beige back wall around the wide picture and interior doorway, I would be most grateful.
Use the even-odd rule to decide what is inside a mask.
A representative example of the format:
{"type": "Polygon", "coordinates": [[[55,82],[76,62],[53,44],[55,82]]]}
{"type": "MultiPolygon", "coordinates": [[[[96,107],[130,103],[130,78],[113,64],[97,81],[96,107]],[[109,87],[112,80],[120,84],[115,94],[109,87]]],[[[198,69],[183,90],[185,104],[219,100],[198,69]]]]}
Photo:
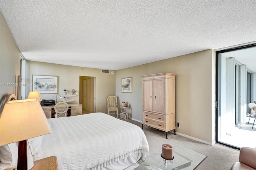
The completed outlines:
{"type": "MultiPolygon", "coordinates": [[[[96,77],[96,112],[107,113],[107,97],[116,93],[115,75],[101,73],[101,69],[26,61],[27,84],[32,84],[32,75],[58,76],[58,93],[62,97],[64,97],[64,89],[68,91],[67,96],[72,94],[72,89],[75,89],[79,94],[79,76],[96,77]]],[[[32,91],[32,87],[26,87],[26,97],[30,91],[32,91]]],[[[42,94],[41,97],[42,99],[56,100],[56,94],[42,94]]],[[[74,100],[74,103],[79,103],[79,95],[68,96],[68,99],[74,100]]],[[[58,98],[57,100],[59,102],[63,99],[58,98]]]]}

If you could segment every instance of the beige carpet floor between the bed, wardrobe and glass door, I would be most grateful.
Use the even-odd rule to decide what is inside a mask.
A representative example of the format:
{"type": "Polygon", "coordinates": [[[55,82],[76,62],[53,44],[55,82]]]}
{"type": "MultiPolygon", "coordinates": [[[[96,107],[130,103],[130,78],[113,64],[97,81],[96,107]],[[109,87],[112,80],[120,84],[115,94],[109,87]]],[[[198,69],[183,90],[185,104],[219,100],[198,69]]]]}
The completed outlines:
{"type": "MultiPolygon", "coordinates": [[[[112,116],[116,117],[116,115],[112,116]]],[[[138,125],[139,127],[142,126],[142,123],[133,120],[127,121],[138,125]]],[[[196,170],[229,170],[231,166],[239,160],[239,150],[221,144],[214,144],[214,146],[210,146],[208,144],[203,144],[201,142],[185,138],[178,134],[174,135],[172,132],[168,134],[168,139],[166,139],[165,135],[159,131],[154,131],[150,128],[143,128],[143,131],[148,140],[150,150],[149,154],[156,152],[161,153],[162,144],[172,144],[176,142],[206,155],[207,158],[196,168],[196,170]]],[[[184,170],[190,170],[190,168],[184,168],[184,170]]]]}

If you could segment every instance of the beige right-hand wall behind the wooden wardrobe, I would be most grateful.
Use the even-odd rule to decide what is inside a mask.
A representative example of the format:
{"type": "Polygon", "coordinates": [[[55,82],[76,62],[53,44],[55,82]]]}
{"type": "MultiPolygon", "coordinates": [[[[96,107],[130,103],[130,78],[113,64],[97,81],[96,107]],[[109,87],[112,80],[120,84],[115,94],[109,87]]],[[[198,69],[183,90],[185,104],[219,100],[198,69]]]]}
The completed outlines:
{"type": "Polygon", "coordinates": [[[116,96],[127,101],[132,118],[142,121],[142,75],[176,74],[177,132],[215,141],[215,53],[209,49],[116,71],[116,96]],[[121,92],[121,78],[132,77],[132,93],[121,92]]]}

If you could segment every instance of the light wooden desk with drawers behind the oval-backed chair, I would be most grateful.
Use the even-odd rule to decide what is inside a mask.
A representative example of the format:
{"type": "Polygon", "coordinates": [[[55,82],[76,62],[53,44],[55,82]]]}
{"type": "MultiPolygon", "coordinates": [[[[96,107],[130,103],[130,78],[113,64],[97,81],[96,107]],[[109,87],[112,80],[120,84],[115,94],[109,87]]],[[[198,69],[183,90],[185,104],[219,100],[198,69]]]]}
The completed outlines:
{"type": "MultiPolygon", "coordinates": [[[[82,107],[80,103],[68,103],[68,115],[69,116],[76,116],[76,115],[82,115],[82,107]]],[[[54,118],[54,105],[53,106],[42,106],[44,114],[47,119],[54,118]]]]}

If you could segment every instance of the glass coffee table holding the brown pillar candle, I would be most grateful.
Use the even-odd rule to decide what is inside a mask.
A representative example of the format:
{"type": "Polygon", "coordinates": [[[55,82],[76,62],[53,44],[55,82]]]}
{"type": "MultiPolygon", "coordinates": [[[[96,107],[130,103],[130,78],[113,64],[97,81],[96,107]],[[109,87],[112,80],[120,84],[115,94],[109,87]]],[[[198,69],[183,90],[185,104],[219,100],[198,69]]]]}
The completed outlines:
{"type": "Polygon", "coordinates": [[[174,156],[172,161],[164,161],[161,153],[154,153],[132,164],[125,170],[180,170],[183,168],[193,170],[207,157],[178,143],[172,143],[171,145],[173,146],[174,156]]]}

